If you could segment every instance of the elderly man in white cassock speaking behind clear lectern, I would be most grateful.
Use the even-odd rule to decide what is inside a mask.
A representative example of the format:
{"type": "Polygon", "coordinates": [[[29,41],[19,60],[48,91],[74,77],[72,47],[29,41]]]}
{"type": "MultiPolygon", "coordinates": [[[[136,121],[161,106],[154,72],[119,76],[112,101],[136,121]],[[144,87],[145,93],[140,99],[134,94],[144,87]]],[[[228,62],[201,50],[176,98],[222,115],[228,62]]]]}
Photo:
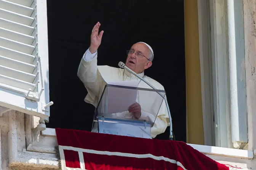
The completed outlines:
{"type": "MultiPolygon", "coordinates": [[[[97,65],[97,50],[101,44],[101,39],[104,33],[104,31],[99,33],[100,25],[101,24],[98,22],[93,27],[91,32],[90,47],[83,55],[77,72],[79,79],[83,82],[86,90],[88,91],[88,94],[85,97],[85,102],[93,104],[94,107],[97,107],[104,87],[108,82],[138,80],[138,87],[152,89],[149,87],[149,85],[140,81],[136,76],[125,69],[97,65]]],[[[154,58],[153,50],[148,44],[144,42],[137,42],[133,44],[131,49],[127,51],[127,55],[125,65],[128,68],[139,74],[139,76],[143,77],[155,88],[164,90],[160,83],[144,75],[144,70],[152,65],[152,60],[154,58]]],[[[147,104],[147,100],[144,100],[145,101],[143,102],[146,102],[145,104],[147,104]]],[[[150,103],[148,104],[150,105],[150,103]]],[[[154,105],[150,105],[148,107],[152,107],[154,109],[154,105]]],[[[152,139],[158,134],[165,132],[167,126],[170,125],[169,116],[164,101],[161,105],[157,118],[155,118],[155,116],[149,112],[143,112],[141,105],[138,104],[138,102],[132,104],[128,108],[127,112],[130,113],[132,118],[137,120],[155,121],[154,126],[151,128],[151,134],[147,134],[143,131],[143,128],[139,128],[131,124],[114,124],[108,129],[100,131],[100,133],[152,139]]],[[[94,124],[92,132],[98,132],[97,124],[94,124]]]]}

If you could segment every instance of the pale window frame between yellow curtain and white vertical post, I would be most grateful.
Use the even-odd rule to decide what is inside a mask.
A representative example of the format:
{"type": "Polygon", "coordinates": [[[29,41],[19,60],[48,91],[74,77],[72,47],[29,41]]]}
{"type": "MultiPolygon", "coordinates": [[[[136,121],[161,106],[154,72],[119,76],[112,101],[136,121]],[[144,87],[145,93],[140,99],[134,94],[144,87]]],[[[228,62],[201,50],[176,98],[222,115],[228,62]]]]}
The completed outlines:
{"type": "Polygon", "coordinates": [[[205,145],[232,148],[225,3],[198,0],[199,50],[205,145]]]}

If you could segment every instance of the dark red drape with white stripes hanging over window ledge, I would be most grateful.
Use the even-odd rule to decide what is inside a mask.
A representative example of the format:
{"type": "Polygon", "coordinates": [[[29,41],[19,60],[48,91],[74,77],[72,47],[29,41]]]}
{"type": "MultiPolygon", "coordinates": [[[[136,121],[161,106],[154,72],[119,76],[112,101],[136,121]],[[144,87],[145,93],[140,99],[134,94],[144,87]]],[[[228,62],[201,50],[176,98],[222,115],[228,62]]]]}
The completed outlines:
{"type": "Polygon", "coordinates": [[[229,170],[184,142],[59,129],[62,170],[229,170]]]}

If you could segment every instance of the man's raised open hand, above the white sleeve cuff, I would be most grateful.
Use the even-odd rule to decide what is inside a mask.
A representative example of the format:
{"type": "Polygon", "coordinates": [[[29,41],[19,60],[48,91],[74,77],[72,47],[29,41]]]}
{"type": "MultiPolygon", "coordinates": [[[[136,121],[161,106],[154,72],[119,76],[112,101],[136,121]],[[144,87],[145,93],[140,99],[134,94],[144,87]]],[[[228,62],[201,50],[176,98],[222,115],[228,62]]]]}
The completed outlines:
{"type": "Polygon", "coordinates": [[[99,45],[101,45],[101,38],[102,38],[104,31],[101,31],[99,33],[100,26],[101,26],[101,24],[99,22],[97,22],[97,24],[94,25],[93,30],[91,32],[91,45],[89,48],[91,54],[96,52],[99,48],[99,45]]]}

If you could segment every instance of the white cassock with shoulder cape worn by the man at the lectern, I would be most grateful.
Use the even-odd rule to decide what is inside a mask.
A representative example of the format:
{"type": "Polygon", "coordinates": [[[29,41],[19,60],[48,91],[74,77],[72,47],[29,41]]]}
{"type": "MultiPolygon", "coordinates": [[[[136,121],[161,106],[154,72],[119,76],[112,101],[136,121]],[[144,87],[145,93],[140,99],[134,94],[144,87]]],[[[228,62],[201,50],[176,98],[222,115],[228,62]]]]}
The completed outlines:
{"type": "MultiPolygon", "coordinates": [[[[97,66],[97,52],[91,54],[89,49],[86,50],[85,54],[83,55],[83,58],[78,67],[77,75],[85,85],[86,90],[88,91],[88,94],[85,97],[85,102],[93,104],[94,107],[97,107],[104,87],[108,82],[131,80],[140,81],[136,76],[126,71],[125,69],[114,68],[110,66],[97,66]]],[[[158,90],[164,90],[163,86],[160,83],[144,75],[144,72],[139,74],[139,76],[143,77],[147,82],[152,84],[158,90]]],[[[138,87],[152,89],[151,87],[149,87],[149,85],[142,81],[139,82],[138,87]]],[[[138,96],[138,98],[139,97],[140,96],[138,96]]],[[[101,130],[99,132],[142,138],[154,138],[156,137],[156,135],[165,132],[167,126],[170,126],[165,101],[162,102],[160,109],[158,106],[159,111],[157,118],[155,118],[154,115],[150,114],[150,109],[153,112],[154,108],[156,108],[154,107],[154,104],[149,104],[149,101],[145,99],[140,100],[139,104],[147,105],[146,107],[148,107],[146,108],[147,112],[141,112],[141,117],[139,118],[139,120],[147,120],[152,122],[155,121],[154,126],[151,128],[151,135],[145,133],[143,129],[130,124],[113,124],[111,127],[101,130]]],[[[127,112],[125,115],[129,116],[129,114],[131,115],[131,113],[127,112]]],[[[98,132],[97,124],[94,124],[92,132],[98,132]]]]}

